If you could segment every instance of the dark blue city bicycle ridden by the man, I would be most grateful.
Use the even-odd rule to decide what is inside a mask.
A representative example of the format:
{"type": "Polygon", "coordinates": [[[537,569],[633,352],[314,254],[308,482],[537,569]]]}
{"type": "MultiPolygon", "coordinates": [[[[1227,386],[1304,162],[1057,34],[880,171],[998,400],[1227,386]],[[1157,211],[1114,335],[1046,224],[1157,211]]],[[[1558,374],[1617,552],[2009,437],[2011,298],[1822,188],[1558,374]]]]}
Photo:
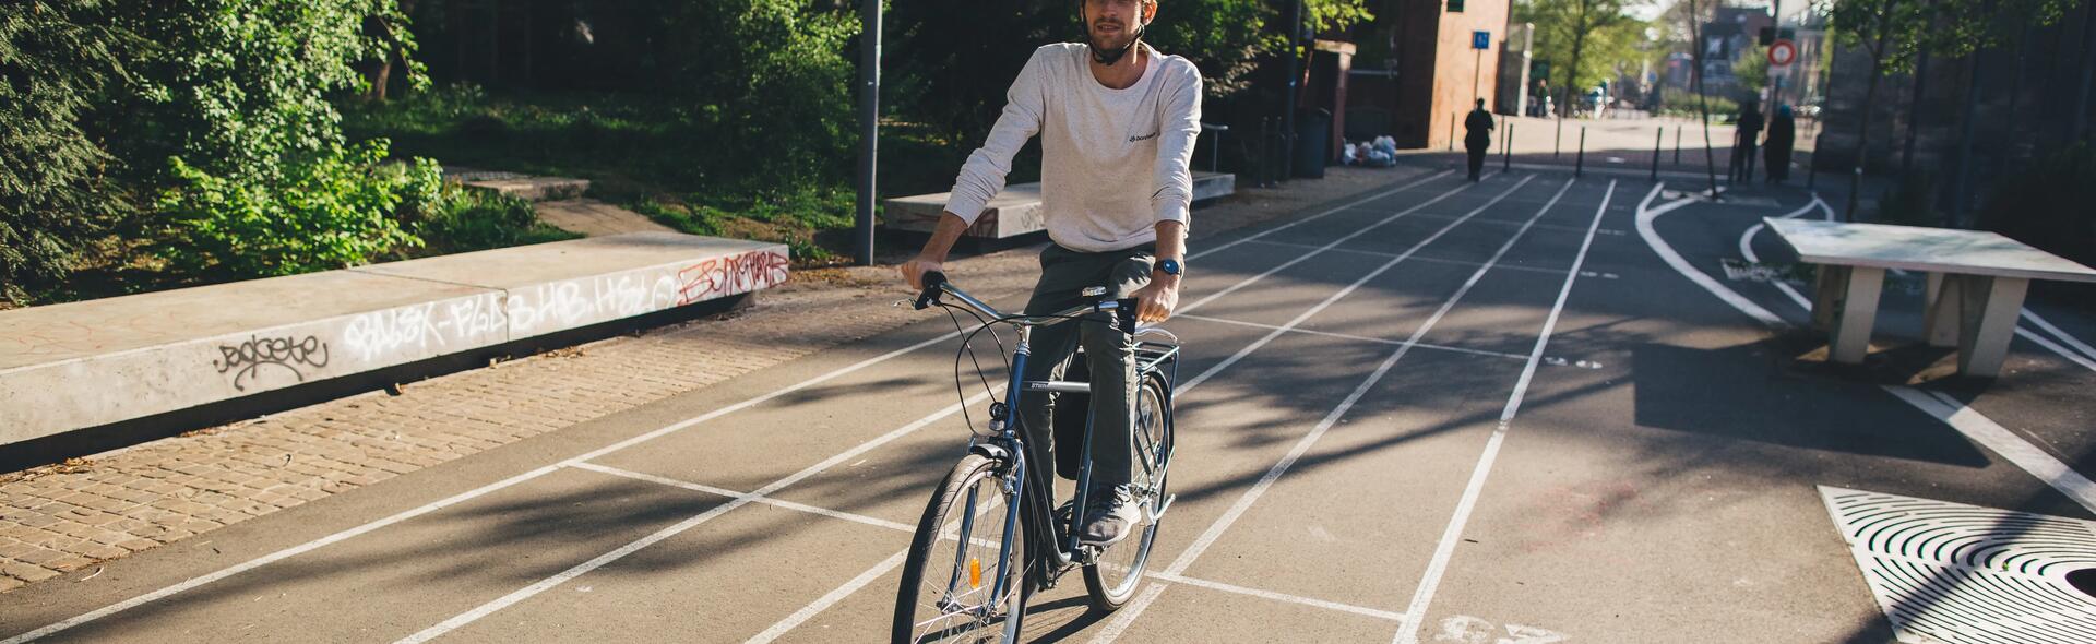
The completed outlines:
{"type": "MultiPolygon", "coordinates": [[[[1172,466],[1172,384],[1178,375],[1178,338],[1157,327],[1136,325],[1134,300],[1105,298],[1105,287],[1086,289],[1092,304],[1052,315],[1004,315],[956,287],[943,273],[924,275],[924,292],[916,308],[941,306],[966,313],[975,329],[962,329],[960,352],[970,352],[977,334],[1010,327],[1017,344],[1006,357],[1006,388],[998,401],[991,390],[989,432],[970,434],[966,455],[933,491],[918,520],[910,556],[895,598],[893,642],[1017,642],[1027,600],[1050,589],[1063,575],[1084,571],[1084,587],[1094,608],[1117,610],[1142,585],[1157,527],[1172,508],[1165,493],[1172,466]],[[958,302],[958,304],[954,304],[958,302]],[[1077,449],[1058,449],[1058,464],[1035,464],[1027,451],[1027,432],[1017,409],[1023,396],[1052,394],[1061,409],[1090,409],[1090,384],[1084,382],[1084,359],[1071,361],[1063,380],[1027,382],[1035,327],[1052,323],[1105,323],[1136,336],[1138,388],[1134,401],[1134,449],[1130,495],[1140,508],[1140,520],[1119,543],[1098,550],[1077,539],[1075,520],[1086,516],[1092,480],[1092,415],[1079,422],[1052,422],[1054,443],[1071,436],[1077,449]],[[1067,457],[1065,457],[1067,455],[1067,457]],[[1054,476],[1075,478],[1073,499],[1054,506],[1054,476]]],[[[956,329],[962,327],[954,315],[956,329]]],[[[1004,355],[1002,340],[998,352],[1004,355]]],[[[983,371],[977,363],[977,371],[983,371]]],[[[960,382],[960,355],[956,355],[960,382]]],[[[1063,413],[1063,417],[1075,417],[1063,413]]]]}

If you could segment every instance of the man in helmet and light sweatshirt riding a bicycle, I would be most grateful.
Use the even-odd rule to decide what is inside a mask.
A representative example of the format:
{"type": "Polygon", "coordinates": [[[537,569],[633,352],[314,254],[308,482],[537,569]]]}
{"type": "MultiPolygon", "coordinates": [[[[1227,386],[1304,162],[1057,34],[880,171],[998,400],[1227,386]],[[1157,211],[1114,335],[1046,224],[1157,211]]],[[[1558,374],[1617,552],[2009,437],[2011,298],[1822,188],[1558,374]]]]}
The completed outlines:
{"type": "MultiPolygon", "coordinates": [[[[924,250],[901,264],[912,289],[941,271],[947,252],[1004,189],[1012,155],[1042,136],[1042,220],[1048,239],[1027,315],[1082,304],[1086,287],[1134,298],[1157,323],[1178,304],[1193,201],[1193,143],[1201,132],[1201,71],[1142,44],[1157,0],[1079,0],[1088,42],[1033,50],[1006,94],[989,138],[954,180],[945,214],[924,250]]],[[[1092,499],[1077,524],[1090,545],[1113,545],[1140,518],[1128,491],[1136,399],[1130,329],[1067,321],[1033,334],[1025,380],[1061,380],[1077,344],[1092,378],[1092,499]]],[[[1029,459],[1054,464],[1048,396],[1021,396],[1029,459]]],[[[1046,470],[1046,468],[1044,468],[1046,470]]],[[[1040,472],[1040,470],[1035,470],[1040,472]]],[[[1046,476],[1046,474],[1042,474],[1046,476]]]]}

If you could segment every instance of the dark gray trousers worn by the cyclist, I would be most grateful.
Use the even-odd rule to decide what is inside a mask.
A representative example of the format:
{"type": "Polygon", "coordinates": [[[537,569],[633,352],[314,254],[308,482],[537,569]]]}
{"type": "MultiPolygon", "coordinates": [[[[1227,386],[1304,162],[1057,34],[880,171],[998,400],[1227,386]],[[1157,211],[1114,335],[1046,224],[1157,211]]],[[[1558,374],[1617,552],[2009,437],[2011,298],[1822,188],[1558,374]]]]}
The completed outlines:
{"type": "MultiPolygon", "coordinates": [[[[1151,281],[1157,260],[1153,245],[1117,252],[1075,252],[1050,243],[1042,252],[1042,279],[1027,300],[1027,315],[1048,315],[1086,304],[1086,287],[1102,285],[1109,298],[1128,298],[1151,281]]],[[[1134,457],[1136,340],[1113,329],[1098,315],[1094,321],[1065,321],[1033,329],[1033,355],[1027,359],[1027,382],[1063,380],[1071,355],[1084,342],[1086,367],[1092,373],[1092,489],[1128,485],[1134,457]]],[[[1033,472],[1054,472],[1054,394],[1025,392],[1019,396],[1019,422],[1027,430],[1027,459],[1033,472]]],[[[1065,409],[1065,413],[1086,409],[1065,409]]],[[[1077,449],[1077,445],[1065,445],[1077,449]]]]}

